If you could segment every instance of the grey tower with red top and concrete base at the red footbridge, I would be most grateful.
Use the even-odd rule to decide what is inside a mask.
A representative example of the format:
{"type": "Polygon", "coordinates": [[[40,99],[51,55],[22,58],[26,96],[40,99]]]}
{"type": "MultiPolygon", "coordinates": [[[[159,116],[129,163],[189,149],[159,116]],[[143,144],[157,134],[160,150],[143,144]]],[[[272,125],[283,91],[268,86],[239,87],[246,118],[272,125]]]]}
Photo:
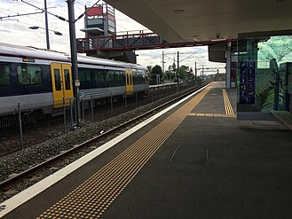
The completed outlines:
{"type": "MultiPolygon", "coordinates": [[[[87,8],[85,5],[85,12],[85,27],[81,29],[81,31],[85,32],[86,38],[91,38],[91,42],[89,44],[94,46],[94,37],[116,35],[114,7],[109,4],[97,4],[94,7],[87,8]]],[[[86,55],[91,57],[137,63],[136,55],[133,51],[111,51],[110,42],[107,42],[107,38],[104,40],[105,45],[109,46],[108,51],[88,51],[86,52],[86,55]]]]}

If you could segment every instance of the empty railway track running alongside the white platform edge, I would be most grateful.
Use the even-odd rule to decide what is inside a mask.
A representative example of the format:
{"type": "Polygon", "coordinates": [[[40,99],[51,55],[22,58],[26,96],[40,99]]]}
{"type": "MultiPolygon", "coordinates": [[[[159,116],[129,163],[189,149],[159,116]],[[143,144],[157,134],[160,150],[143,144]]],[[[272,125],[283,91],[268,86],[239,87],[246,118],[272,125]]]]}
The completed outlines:
{"type": "MultiPolygon", "coordinates": [[[[77,160],[78,158],[82,157],[85,153],[89,153],[95,148],[98,142],[100,141],[106,141],[108,137],[114,137],[119,135],[119,133],[124,130],[129,128],[130,126],[136,125],[138,122],[144,120],[146,117],[149,117],[153,113],[162,110],[166,106],[170,106],[170,104],[178,101],[181,98],[185,98],[185,96],[189,95],[195,90],[201,89],[203,85],[198,86],[194,88],[193,90],[188,90],[184,94],[180,95],[178,98],[173,98],[172,100],[162,104],[161,106],[157,106],[152,110],[149,110],[146,113],[140,114],[137,117],[131,119],[130,121],[126,121],[119,126],[115,127],[114,129],[109,129],[103,133],[101,133],[97,137],[92,137],[91,139],[83,142],[80,145],[75,145],[73,148],[63,152],[59,153],[59,155],[52,157],[49,160],[45,160],[42,163],[37,164],[36,166],[32,168],[28,168],[27,170],[19,173],[19,174],[14,174],[12,177],[4,180],[3,182],[0,183],[0,191],[5,192],[9,190],[13,191],[21,191],[19,189],[13,189],[14,187],[18,187],[18,184],[28,184],[30,186],[32,184],[32,178],[37,178],[39,180],[36,180],[36,182],[42,180],[45,176],[48,176],[51,174],[51,171],[57,171],[59,168],[63,168],[66,166],[68,163],[71,161],[77,160]],[[78,156],[76,156],[78,154],[78,156]],[[58,168],[54,168],[58,167],[58,168]],[[48,172],[50,172],[48,174],[48,172]]],[[[35,184],[34,182],[33,184],[35,184]]],[[[26,187],[28,187],[26,186],[26,187]]],[[[25,189],[25,188],[23,188],[25,189]]],[[[23,190],[22,189],[22,190],[23,190]]]]}

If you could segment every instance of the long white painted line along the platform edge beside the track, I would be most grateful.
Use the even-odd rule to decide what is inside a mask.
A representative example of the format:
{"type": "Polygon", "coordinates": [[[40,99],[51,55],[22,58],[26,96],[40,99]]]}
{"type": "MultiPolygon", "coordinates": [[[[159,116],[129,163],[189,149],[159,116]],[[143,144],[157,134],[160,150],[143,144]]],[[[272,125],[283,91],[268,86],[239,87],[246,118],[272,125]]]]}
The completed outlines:
{"type": "Polygon", "coordinates": [[[178,106],[179,104],[183,103],[186,99],[193,97],[193,95],[197,94],[201,90],[204,90],[209,85],[210,85],[210,83],[207,84],[206,86],[202,87],[200,90],[196,90],[192,94],[190,94],[189,96],[179,100],[178,103],[175,103],[174,105],[167,107],[166,109],[162,110],[160,113],[154,114],[154,116],[148,118],[146,121],[142,121],[137,126],[127,130],[126,132],[122,133],[118,137],[115,137],[114,139],[110,140],[106,144],[99,146],[99,148],[95,149],[91,153],[88,153],[88,154],[84,155],[83,157],[81,157],[78,160],[75,160],[73,163],[67,165],[65,168],[59,169],[56,173],[52,174],[51,176],[47,176],[46,178],[44,178],[40,182],[28,187],[28,189],[26,189],[26,190],[24,190],[24,191],[22,191],[22,192],[20,192],[20,193],[18,193],[16,195],[14,195],[10,199],[5,200],[4,202],[2,202],[0,204],[0,207],[1,206],[2,207],[5,206],[4,210],[0,211],[0,217],[8,214],[13,209],[15,209],[16,207],[19,207],[20,205],[22,205],[23,203],[25,203],[29,199],[34,198],[37,194],[43,192],[44,190],[49,188],[52,184],[55,184],[55,183],[59,182],[59,180],[61,180],[65,176],[71,174],[77,168],[82,167],[85,163],[93,160],[94,158],[99,156],[101,153],[106,152],[109,148],[111,148],[114,145],[118,144],[119,142],[121,142],[126,137],[129,137],[131,134],[136,132],[138,129],[143,128],[144,126],[146,126],[151,121],[154,121],[158,117],[162,116],[162,114],[167,113],[172,108],[174,108],[174,107],[178,106]]]}

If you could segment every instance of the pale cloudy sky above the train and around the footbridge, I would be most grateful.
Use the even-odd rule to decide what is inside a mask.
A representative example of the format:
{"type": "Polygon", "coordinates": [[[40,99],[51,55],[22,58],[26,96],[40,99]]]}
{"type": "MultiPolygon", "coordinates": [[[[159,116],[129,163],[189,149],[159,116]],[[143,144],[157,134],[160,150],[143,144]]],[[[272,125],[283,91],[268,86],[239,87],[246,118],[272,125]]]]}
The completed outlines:
{"type": "MultiPolygon", "coordinates": [[[[16,14],[25,14],[31,12],[40,12],[35,7],[25,4],[33,4],[36,7],[43,8],[43,0],[1,0],[0,17],[13,16],[16,14]]],[[[97,0],[77,0],[75,1],[75,18],[84,12],[84,5],[87,7],[95,4],[97,0]]],[[[100,2],[99,2],[100,3],[100,2]]],[[[68,19],[67,2],[65,0],[47,0],[48,12],[54,15],[68,19]]],[[[48,14],[50,47],[54,51],[70,52],[69,27],[67,21],[59,20],[51,14],[48,14]],[[55,35],[54,31],[59,31],[62,35],[55,35]]],[[[117,32],[146,30],[135,20],[131,20],[122,12],[115,10],[116,30],[117,32]]],[[[34,15],[11,17],[0,19],[0,43],[10,43],[25,46],[35,46],[37,48],[46,48],[44,13],[34,15]],[[37,26],[39,29],[30,29],[37,26]]],[[[76,38],[83,38],[85,34],[80,31],[84,27],[84,20],[78,20],[75,23],[76,38]]],[[[118,33],[117,33],[118,35],[118,33]]],[[[174,62],[177,62],[177,52],[179,51],[179,66],[191,66],[197,68],[224,67],[222,63],[211,63],[208,61],[208,47],[186,47],[161,50],[136,51],[137,62],[142,66],[162,66],[162,51],[164,52],[164,67],[168,69],[174,62]]],[[[224,70],[219,69],[220,72],[224,70]]],[[[200,72],[200,71],[199,71],[200,72]]],[[[205,74],[215,74],[216,70],[204,70],[205,74]]]]}

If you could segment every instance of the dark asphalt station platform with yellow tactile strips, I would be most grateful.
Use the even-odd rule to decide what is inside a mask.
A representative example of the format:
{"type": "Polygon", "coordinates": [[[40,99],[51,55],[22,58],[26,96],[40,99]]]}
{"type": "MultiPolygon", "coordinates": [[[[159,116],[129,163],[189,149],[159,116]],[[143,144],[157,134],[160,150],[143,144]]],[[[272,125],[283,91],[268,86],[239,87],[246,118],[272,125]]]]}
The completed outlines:
{"type": "Polygon", "coordinates": [[[235,105],[236,90],[213,82],[0,216],[292,218],[291,130],[237,121],[235,105]]]}

